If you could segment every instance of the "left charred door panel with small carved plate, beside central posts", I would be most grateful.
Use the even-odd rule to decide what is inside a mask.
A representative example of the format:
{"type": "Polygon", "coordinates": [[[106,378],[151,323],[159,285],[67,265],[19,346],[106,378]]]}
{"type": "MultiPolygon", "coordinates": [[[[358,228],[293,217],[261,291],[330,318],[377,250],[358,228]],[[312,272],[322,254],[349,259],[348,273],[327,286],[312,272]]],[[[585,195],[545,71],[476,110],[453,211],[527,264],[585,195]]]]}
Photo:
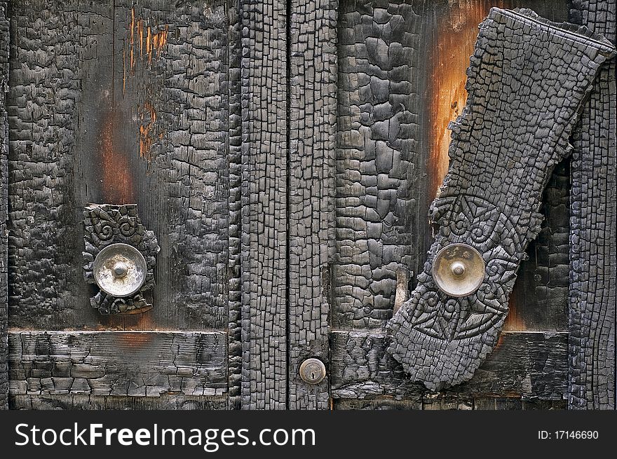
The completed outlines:
{"type": "Polygon", "coordinates": [[[4,2],[11,407],[236,405],[234,8],[4,2]],[[139,294],[93,282],[111,242],[139,294]]]}

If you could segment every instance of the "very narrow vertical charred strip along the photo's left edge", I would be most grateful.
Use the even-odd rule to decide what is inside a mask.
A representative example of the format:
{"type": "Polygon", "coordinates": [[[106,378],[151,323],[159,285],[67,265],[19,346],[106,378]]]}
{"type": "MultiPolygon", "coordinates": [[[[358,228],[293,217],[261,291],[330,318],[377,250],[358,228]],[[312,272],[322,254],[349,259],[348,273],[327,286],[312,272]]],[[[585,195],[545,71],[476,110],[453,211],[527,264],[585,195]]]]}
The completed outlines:
{"type": "Polygon", "coordinates": [[[8,408],[8,91],[9,21],[7,2],[0,1],[0,409],[8,408]]]}

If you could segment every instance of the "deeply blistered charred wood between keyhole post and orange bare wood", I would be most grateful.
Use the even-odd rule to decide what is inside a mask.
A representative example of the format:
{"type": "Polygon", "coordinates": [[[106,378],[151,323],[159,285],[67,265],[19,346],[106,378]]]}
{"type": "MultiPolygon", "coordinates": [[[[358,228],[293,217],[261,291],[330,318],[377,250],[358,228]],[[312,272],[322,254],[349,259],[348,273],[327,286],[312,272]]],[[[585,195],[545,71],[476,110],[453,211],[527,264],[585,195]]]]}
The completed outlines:
{"type": "Polygon", "coordinates": [[[382,327],[424,249],[427,2],[341,0],[332,324],[382,327]]]}

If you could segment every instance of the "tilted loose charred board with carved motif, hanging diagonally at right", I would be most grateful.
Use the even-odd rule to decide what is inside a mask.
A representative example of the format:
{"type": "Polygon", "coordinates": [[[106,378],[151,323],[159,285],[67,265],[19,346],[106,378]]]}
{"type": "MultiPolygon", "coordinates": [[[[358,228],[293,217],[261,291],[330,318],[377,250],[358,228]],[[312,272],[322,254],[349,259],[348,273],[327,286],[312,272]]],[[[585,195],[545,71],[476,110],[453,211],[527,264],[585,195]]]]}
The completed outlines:
{"type": "Polygon", "coordinates": [[[468,381],[496,345],[516,271],[541,229],[543,189],[614,52],[584,27],[529,10],[491,8],[480,25],[467,104],[449,126],[449,172],[430,210],[439,233],[418,286],[388,322],[388,351],[413,381],[430,390],[468,381]],[[440,292],[431,275],[435,254],[456,242],[487,265],[480,289],[463,298],[440,292]]]}

